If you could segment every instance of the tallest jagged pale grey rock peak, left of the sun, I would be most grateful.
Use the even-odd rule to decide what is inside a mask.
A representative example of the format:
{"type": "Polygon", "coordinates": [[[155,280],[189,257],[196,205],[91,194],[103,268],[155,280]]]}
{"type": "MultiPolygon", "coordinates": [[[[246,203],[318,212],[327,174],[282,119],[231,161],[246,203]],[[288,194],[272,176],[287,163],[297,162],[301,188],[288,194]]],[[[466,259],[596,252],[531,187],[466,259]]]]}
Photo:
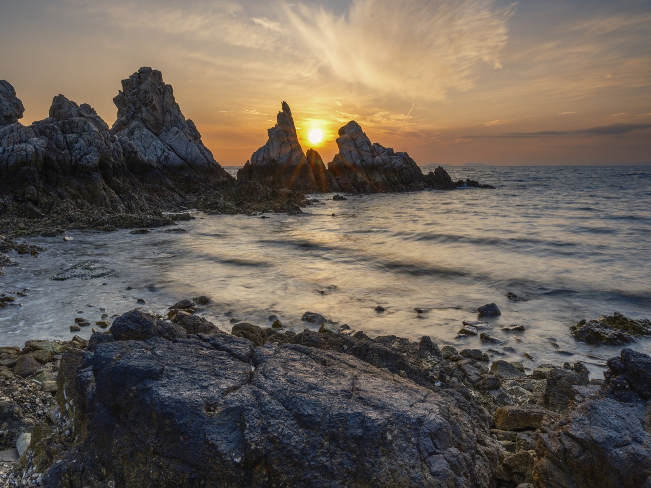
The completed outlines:
{"type": "Polygon", "coordinates": [[[163,83],[158,70],[143,67],[123,79],[113,102],[118,107],[113,133],[132,141],[184,190],[199,191],[208,182],[232,179],[201,142],[194,122],[183,116],[171,85],[163,83]]]}

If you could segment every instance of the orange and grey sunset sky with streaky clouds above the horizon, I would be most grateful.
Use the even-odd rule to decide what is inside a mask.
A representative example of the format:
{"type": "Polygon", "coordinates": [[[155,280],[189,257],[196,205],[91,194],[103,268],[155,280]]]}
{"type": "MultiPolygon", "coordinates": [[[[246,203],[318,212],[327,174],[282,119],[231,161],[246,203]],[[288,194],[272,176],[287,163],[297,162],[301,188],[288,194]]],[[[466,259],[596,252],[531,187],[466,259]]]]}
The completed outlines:
{"type": "Polygon", "coordinates": [[[110,126],[120,81],[150,66],[225,166],[283,101],[326,163],[349,120],[421,166],[651,161],[651,0],[0,3],[23,124],[61,93],[110,126]]]}

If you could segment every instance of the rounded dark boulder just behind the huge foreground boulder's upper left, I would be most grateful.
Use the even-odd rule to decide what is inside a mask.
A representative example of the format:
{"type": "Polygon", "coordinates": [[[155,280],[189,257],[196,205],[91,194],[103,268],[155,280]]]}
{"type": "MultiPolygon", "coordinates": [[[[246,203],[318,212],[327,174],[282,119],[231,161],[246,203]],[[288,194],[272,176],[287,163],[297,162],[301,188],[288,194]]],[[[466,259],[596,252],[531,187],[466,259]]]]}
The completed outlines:
{"type": "Polygon", "coordinates": [[[167,340],[183,338],[187,332],[182,327],[164,322],[154,314],[142,310],[132,310],[113,321],[111,334],[116,340],[148,340],[161,337],[167,340]]]}

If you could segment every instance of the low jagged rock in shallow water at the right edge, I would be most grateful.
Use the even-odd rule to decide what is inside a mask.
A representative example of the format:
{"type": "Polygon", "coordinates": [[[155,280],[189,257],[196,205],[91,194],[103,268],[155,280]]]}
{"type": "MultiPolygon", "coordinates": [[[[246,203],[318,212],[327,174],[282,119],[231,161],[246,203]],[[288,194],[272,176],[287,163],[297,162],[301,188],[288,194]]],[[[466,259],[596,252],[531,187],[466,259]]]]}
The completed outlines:
{"type": "Polygon", "coordinates": [[[574,338],[587,344],[619,346],[637,342],[637,337],[651,335],[651,321],[630,319],[619,312],[602,315],[589,322],[581,320],[570,328],[574,338]]]}

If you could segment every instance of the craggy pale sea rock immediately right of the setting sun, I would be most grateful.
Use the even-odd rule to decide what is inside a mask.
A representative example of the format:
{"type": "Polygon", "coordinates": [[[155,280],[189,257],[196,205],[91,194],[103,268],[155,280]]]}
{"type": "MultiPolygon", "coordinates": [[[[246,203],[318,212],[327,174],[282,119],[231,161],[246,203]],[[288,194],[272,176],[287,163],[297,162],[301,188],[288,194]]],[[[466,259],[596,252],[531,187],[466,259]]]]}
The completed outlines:
{"type": "Polygon", "coordinates": [[[343,191],[360,193],[424,189],[421,169],[406,152],[371,144],[362,128],[351,120],[339,129],[339,153],[329,171],[343,191]]]}

